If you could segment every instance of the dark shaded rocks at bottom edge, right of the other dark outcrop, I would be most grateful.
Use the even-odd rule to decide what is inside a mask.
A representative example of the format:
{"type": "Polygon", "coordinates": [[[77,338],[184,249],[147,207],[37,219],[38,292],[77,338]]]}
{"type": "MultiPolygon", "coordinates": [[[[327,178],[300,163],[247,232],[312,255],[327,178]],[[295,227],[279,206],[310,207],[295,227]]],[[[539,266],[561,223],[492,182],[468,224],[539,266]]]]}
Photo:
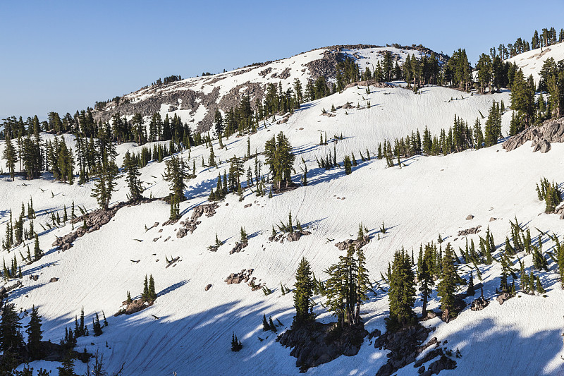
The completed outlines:
{"type": "Polygon", "coordinates": [[[410,363],[414,363],[413,366],[419,368],[419,375],[425,376],[438,374],[441,370],[453,370],[456,368],[456,362],[444,355],[443,349],[439,347],[441,341],[438,341],[436,337],[431,338],[427,344],[423,344],[423,341],[427,339],[429,333],[434,329],[414,325],[400,329],[398,332],[386,332],[379,336],[374,341],[374,348],[385,348],[391,352],[387,355],[388,362],[381,366],[378,372],[376,372],[376,376],[393,375],[394,372],[410,363]],[[422,358],[415,361],[417,356],[426,351],[427,348],[431,348],[431,346],[434,347],[431,351],[428,351],[422,358]],[[431,363],[429,368],[425,370],[423,364],[438,356],[440,358],[431,363]]]}

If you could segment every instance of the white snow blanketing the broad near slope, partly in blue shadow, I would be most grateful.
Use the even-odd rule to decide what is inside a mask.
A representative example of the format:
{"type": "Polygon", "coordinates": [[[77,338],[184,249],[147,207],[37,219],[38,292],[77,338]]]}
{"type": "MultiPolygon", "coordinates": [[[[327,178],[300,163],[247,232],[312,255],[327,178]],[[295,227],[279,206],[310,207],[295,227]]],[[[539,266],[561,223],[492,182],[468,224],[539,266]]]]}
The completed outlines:
{"type": "MultiPolygon", "coordinates": [[[[546,154],[533,153],[528,142],[512,152],[505,152],[498,144],[448,156],[415,156],[402,159],[401,169],[386,168],[384,159],[374,158],[378,142],[385,139],[393,141],[417,129],[422,131],[425,126],[434,134],[439,133],[441,128],[452,125],[455,114],[470,124],[479,118],[483,125],[485,119],[480,112],[487,116],[491,102],[503,99],[506,106],[509,104],[509,92],[470,96],[443,87],[423,87],[420,92],[416,95],[400,87],[370,87],[367,94],[366,87],[350,87],[341,94],[304,104],[287,123],[276,124],[279,116],[276,121],[266,121],[266,126],[261,122],[259,131],[250,135],[252,152],[263,152],[264,142],[283,131],[296,153],[293,181],[300,181],[303,158],[308,185],[275,194],[271,199],[245,190],[245,199],[239,202],[238,196],[230,194],[219,202],[213,217],[200,217],[197,229],[183,238],[176,237],[180,224],[162,225],[168,219],[169,206],[154,201],[124,207],[102,229],[78,238],[73,248],[56,250],[51,244],[57,236],[70,233],[71,224],[47,231],[39,224],[46,226],[50,222],[51,211],[62,216],[63,205],[69,208],[73,201],[77,207],[94,210],[97,205],[90,196],[92,182],[68,186],[52,181],[50,174],[35,181],[16,177],[14,182],[2,176],[0,228],[5,229],[10,209],[17,217],[22,202],[27,205],[33,198],[38,214],[35,228],[46,253],[38,262],[23,266],[23,287],[14,290],[10,300],[18,310],[29,312],[34,304],[39,307],[44,339],[55,342],[64,336],[65,327],[74,327],[75,315],[80,315],[82,307],[89,326],[92,316],[104,311],[109,322],[104,334],[79,337],[76,349],[86,348],[90,353],[99,350],[110,372],[125,362],[126,375],[298,375],[290,348],[278,344],[276,334],[262,331],[262,316],[283,323],[278,334],[288,329],[293,320],[293,296],[282,295],[280,285],[293,288],[295,270],[302,257],[309,260],[317,277],[326,279],[324,270],[344,255],[334,244],[355,238],[360,222],[368,227],[372,237],[364,247],[370,279],[380,286],[377,295],[370,293],[369,302],[361,307],[369,332],[385,330],[388,285],[381,280],[380,273],[386,272],[393,254],[402,247],[408,252],[415,250],[417,257],[419,245],[436,241],[440,233],[458,253],[466,240],[473,239],[478,244],[479,236],[485,236],[489,226],[496,245],[503,248],[510,231],[509,221],[515,217],[521,226],[531,229],[534,241],[538,241],[537,229],[554,232],[562,239],[564,221],[557,214],[544,214],[544,202],[537,198],[535,183],[542,176],[549,181],[564,181],[564,145],[553,144],[546,154]],[[367,101],[371,102],[370,108],[367,101]],[[354,108],[337,109],[333,117],[321,115],[322,109],[330,111],[331,104],[338,107],[346,102],[354,108]],[[320,133],[327,133],[329,145],[319,145],[320,133]],[[333,135],[341,133],[343,140],[334,144],[333,135]],[[359,164],[353,167],[352,174],[345,176],[344,169],[326,171],[317,166],[315,157],[332,153],[333,145],[341,166],[345,154],[355,153],[359,164]],[[372,159],[361,162],[360,152],[366,156],[367,149],[372,159]],[[290,210],[293,218],[312,234],[295,242],[269,242],[272,226],[286,221],[290,210]],[[467,220],[469,214],[474,218],[467,220]],[[490,221],[491,218],[495,220],[490,221]],[[151,228],[155,222],[159,225],[151,228]],[[379,233],[382,222],[388,228],[386,234],[379,233]],[[458,231],[479,225],[482,231],[478,234],[458,236],[458,231]],[[248,246],[243,252],[230,255],[240,238],[241,226],[245,226],[250,237],[248,246]],[[214,245],[216,234],[225,244],[210,252],[207,246],[214,245]],[[167,268],[166,259],[174,257],[180,260],[167,268]],[[264,296],[261,290],[252,291],[244,283],[226,284],[224,280],[229,274],[243,269],[254,269],[255,282],[266,284],[273,293],[264,296]],[[37,281],[30,279],[30,274],[39,275],[37,281]],[[140,296],[145,274],[154,277],[158,294],[155,304],[133,315],[114,317],[127,291],[132,298],[140,296]],[[50,283],[52,277],[59,280],[50,283]],[[212,287],[204,291],[208,284],[212,287]],[[230,351],[233,333],[243,343],[238,353],[230,351]]],[[[504,135],[509,118],[509,113],[503,116],[504,135]]],[[[72,138],[66,140],[71,142],[72,138]]],[[[194,207],[207,202],[218,174],[228,169],[226,161],[233,155],[242,157],[247,150],[246,136],[231,137],[223,143],[226,149],[220,149],[216,141],[213,143],[216,161],[221,160],[218,168],[202,167],[202,157],[206,161],[209,157],[209,150],[203,145],[178,154],[191,169],[190,153],[197,174],[185,189],[188,200],[180,203],[182,221],[190,219],[194,207]]],[[[126,150],[138,152],[140,147],[133,143],[119,145],[118,162],[121,163],[126,150]]],[[[260,155],[259,160],[264,162],[264,157],[260,155]]],[[[245,169],[249,166],[254,168],[254,160],[245,162],[245,169]]],[[[266,171],[266,166],[262,171],[266,171]]],[[[145,197],[168,194],[168,183],[162,178],[164,163],[151,162],[141,172],[140,178],[147,188],[145,197]]],[[[123,175],[116,189],[112,204],[126,200],[128,188],[123,175]]],[[[28,226],[26,219],[24,227],[28,226]]],[[[19,261],[19,253],[25,255],[28,243],[9,254],[2,251],[6,263],[14,255],[19,261]]],[[[543,250],[552,245],[548,241],[543,250]]],[[[33,250],[32,242],[30,248],[33,250]]],[[[528,272],[531,256],[520,253],[519,257],[528,272]]],[[[484,296],[491,300],[484,310],[472,311],[467,306],[448,324],[438,317],[424,322],[436,327],[431,336],[444,341],[443,348],[453,352],[458,348],[462,354],[456,359],[457,368],[443,370],[441,375],[564,375],[560,357],[564,293],[557,280],[555,262],[549,260],[548,265],[550,272],[535,271],[547,290],[546,297],[517,293],[520,298],[500,305],[495,298],[501,267],[494,262],[480,266],[484,296]]],[[[459,274],[469,277],[470,268],[460,266],[459,274]]],[[[475,274],[474,282],[479,282],[475,274]]],[[[7,282],[14,283],[15,280],[7,282]]],[[[324,298],[315,296],[314,301],[324,303],[324,298]]],[[[472,297],[466,301],[470,304],[472,297]]],[[[415,307],[419,315],[421,304],[417,301],[415,307]]],[[[429,308],[439,308],[436,293],[429,308]]],[[[334,320],[321,304],[314,311],[321,322],[334,320]]],[[[28,316],[24,317],[23,325],[28,320],[28,316]]],[[[307,374],[374,375],[386,363],[388,351],[374,348],[373,341],[365,338],[356,356],[341,356],[310,368],[307,374]]],[[[41,366],[56,370],[58,365],[32,363],[36,369],[41,366]]],[[[84,365],[77,363],[77,367],[84,372],[84,365]]],[[[412,364],[397,372],[416,374],[417,368],[412,364]]]]}

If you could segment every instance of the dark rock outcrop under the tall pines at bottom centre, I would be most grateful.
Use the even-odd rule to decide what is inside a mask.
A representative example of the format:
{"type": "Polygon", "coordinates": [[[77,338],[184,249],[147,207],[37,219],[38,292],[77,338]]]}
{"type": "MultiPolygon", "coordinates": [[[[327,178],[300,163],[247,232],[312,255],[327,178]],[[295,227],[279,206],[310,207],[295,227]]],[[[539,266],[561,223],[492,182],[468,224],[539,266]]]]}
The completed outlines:
{"type": "Polygon", "coordinates": [[[292,348],[290,356],[297,358],[295,365],[305,372],[341,355],[357,355],[367,334],[362,323],[338,332],[336,322],[313,322],[286,330],[276,341],[292,348]]]}

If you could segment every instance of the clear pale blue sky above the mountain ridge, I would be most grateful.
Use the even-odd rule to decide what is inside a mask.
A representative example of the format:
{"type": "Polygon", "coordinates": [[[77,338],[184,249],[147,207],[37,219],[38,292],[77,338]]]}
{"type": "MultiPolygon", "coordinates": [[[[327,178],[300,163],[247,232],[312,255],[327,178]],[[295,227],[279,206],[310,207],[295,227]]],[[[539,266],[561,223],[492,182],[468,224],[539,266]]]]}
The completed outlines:
{"type": "Polygon", "coordinates": [[[333,44],[482,52],[564,28],[564,1],[0,1],[0,119],[333,44]]]}

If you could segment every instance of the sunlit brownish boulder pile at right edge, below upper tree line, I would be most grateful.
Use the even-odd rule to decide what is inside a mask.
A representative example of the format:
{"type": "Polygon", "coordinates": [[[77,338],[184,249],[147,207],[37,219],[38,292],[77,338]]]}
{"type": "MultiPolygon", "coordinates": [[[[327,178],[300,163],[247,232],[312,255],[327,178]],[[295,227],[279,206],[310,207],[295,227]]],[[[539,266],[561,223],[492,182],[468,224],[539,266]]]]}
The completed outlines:
{"type": "Polygon", "coordinates": [[[503,149],[510,152],[527,141],[532,141],[533,152],[548,152],[551,150],[551,142],[564,142],[564,118],[548,120],[541,126],[525,129],[503,142],[503,149]]]}

